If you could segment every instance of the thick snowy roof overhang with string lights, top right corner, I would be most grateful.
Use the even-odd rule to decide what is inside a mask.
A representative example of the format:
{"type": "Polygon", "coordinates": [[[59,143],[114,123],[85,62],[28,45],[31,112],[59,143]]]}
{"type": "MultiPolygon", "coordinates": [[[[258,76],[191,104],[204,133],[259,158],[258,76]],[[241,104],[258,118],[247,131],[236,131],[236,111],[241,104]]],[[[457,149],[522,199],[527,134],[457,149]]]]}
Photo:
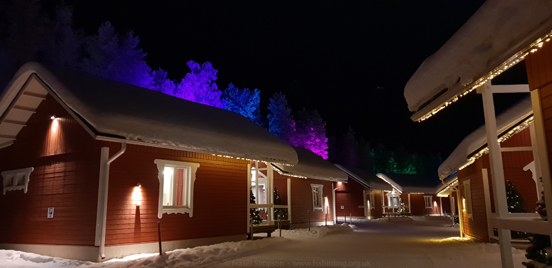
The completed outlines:
{"type": "Polygon", "coordinates": [[[539,48],[551,30],[552,1],[486,1],[406,83],[404,97],[415,112],[412,120],[432,114],[518,63],[530,49],[539,48]]]}

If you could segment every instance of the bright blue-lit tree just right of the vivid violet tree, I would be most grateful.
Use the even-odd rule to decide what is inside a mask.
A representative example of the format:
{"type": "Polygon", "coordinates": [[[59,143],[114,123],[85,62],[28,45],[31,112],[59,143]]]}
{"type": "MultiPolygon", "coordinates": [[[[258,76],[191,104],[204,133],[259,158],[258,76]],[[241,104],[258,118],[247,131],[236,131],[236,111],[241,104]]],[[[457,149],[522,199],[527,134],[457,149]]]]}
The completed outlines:
{"type": "Polygon", "coordinates": [[[259,104],[261,103],[261,92],[255,88],[240,90],[233,83],[222,93],[221,99],[226,101],[226,110],[237,112],[246,116],[250,121],[260,125],[259,104]]]}

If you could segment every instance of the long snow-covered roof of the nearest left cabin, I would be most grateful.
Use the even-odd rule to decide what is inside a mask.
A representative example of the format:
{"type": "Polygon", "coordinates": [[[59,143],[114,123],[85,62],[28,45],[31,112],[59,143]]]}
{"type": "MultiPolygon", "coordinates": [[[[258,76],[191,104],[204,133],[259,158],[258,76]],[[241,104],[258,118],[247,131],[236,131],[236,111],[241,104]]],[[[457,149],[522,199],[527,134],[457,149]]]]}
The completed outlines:
{"type": "Polygon", "coordinates": [[[10,103],[28,90],[27,81],[43,85],[97,139],[297,163],[293,147],[235,112],[39,63],[15,74],[0,96],[0,115],[12,114],[10,103]]]}

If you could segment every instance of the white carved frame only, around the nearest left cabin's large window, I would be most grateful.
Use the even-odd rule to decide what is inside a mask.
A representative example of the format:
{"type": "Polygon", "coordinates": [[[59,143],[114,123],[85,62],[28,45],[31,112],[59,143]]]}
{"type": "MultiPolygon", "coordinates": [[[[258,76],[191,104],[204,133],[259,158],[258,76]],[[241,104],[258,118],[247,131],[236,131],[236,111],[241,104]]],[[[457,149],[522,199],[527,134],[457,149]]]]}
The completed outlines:
{"type": "Polygon", "coordinates": [[[195,184],[195,172],[197,172],[197,168],[199,167],[198,163],[190,163],[190,162],[181,162],[181,161],[168,161],[163,159],[155,159],[153,163],[157,164],[157,178],[159,178],[159,208],[157,212],[157,217],[161,218],[163,214],[185,214],[188,213],[190,215],[190,218],[193,216],[193,209],[194,209],[194,184],[195,184]],[[165,182],[165,167],[181,167],[184,169],[188,169],[188,176],[189,180],[188,183],[188,192],[185,194],[188,197],[188,205],[186,207],[180,207],[180,206],[164,206],[163,205],[163,185],[165,182]]]}

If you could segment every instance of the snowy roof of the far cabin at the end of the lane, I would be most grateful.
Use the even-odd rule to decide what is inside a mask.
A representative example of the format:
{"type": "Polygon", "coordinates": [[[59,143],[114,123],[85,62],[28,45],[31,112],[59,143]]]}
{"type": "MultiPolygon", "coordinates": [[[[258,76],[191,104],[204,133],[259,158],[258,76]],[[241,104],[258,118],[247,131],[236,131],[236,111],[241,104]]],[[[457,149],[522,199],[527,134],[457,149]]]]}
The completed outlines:
{"type": "Polygon", "coordinates": [[[396,174],[396,173],[378,173],[376,176],[388,181],[400,192],[404,193],[422,193],[433,194],[435,187],[442,184],[440,179],[432,176],[411,175],[411,174],[396,174]]]}

